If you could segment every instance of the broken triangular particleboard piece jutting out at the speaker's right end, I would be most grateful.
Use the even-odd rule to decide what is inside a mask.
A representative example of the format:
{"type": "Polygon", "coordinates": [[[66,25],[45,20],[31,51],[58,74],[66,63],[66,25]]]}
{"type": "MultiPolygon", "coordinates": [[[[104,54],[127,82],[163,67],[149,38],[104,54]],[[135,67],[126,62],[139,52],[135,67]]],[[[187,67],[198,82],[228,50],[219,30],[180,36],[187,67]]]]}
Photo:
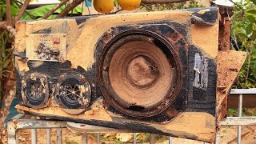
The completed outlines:
{"type": "Polygon", "coordinates": [[[242,51],[219,51],[218,80],[217,80],[217,106],[218,122],[226,115],[227,95],[230,93],[231,86],[237,78],[243,63],[246,60],[246,52],[242,51]]]}

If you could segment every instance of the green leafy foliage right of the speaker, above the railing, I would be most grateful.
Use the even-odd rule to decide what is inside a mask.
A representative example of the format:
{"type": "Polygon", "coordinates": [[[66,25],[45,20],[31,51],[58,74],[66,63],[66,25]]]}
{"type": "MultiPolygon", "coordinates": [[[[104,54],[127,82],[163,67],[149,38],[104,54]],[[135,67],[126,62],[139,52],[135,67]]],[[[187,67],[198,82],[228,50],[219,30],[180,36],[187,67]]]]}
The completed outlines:
{"type": "Polygon", "coordinates": [[[231,37],[239,50],[246,51],[246,62],[238,74],[234,88],[248,89],[256,86],[256,1],[242,0],[234,5],[231,19],[231,37]]]}

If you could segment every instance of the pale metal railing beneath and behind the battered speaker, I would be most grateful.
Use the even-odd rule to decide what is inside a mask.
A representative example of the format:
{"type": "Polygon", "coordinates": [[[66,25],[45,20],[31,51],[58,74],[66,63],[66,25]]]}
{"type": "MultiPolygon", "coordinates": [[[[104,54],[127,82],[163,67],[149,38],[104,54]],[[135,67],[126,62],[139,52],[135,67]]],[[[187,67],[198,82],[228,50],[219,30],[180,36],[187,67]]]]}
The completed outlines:
{"type": "MultiPolygon", "coordinates": [[[[256,98],[256,89],[233,89],[230,92],[230,95],[234,97],[238,96],[238,117],[228,117],[226,120],[219,123],[220,126],[238,126],[238,144],[241,143],[241,126],[251,126],[256,125],[256,117],[242,117],[242,107],[243,107],[243,97],[256,98]]],[[[234,102],[234,101],[233,101],[234,102]]],[[[256,102],[255,107],[256,107],[256,102]]],[[[8,133],[8,143],[9,144],[18,144],[19,142],[19,131],[22,129],[31,129],[31,143],[37,143],[37,129],[46,129],[46,143],[50,144],[51,142],[51,132],[50,129],[57,129],[57,143],[62,143],[62,128],[66,128],[67,122],[59,121],[43,121],[35,119],[22,119],[23,114],[18,114],[10,120],[7,124],[7,133],[8,133]]],[[[78,127],[79,128],[79,127],[78,127]]],[[[84,129],[85,130],[85,129],[84,129]]],[[[100,133],[102,131],[107,131],[106,133],[122,133],[126,130],[115,130],[110,128],[104,128],[100,126],[90,126],[89,129],[85,130],[86,132],[82,133],[82,143],[87,143],[87,134],[97,133],[97,143],[100,143],[100,133]],[[95,130],[98,130],[95,132],[95,130]]],[[[126,131],[127,132],[127,131],[126,131]]],[[[133,134],[133,143],[136,144],[137,134],[133,134]]],[[[220,132],[216,135],[216,142],[221,143],[220,132]]],[[[173,138],[169,138],[169,143],[173,142],[173,138]]],[[[150,144],[154,143],[154,134],[150,134],[150,144]]],[[[206,142],[202,142],[206,143],[206,142]]]]}

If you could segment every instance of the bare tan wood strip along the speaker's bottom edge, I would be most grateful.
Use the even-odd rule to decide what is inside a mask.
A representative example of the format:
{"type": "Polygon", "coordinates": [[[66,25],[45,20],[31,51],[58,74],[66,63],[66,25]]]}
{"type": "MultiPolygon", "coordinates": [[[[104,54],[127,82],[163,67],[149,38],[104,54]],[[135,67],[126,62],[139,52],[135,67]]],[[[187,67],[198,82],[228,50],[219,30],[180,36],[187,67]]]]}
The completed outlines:
{"type": "MultiPolygon", "coordinates": [[[[161,124],[139,122],[120,118],[111,118],[108,121],[106,121],[106,119],[102,121],[94,117],[94,114],[96,116],[106,115],[105,112],[95,112],[90,115],[90,118],[85,117],[83,114],[74,117],[74,115],[67,114],[61,109],[54,108],[54,106],[39,110],[34,110],[23,106],[16,106],[16,109],[26,110],[28,114],[58,118],[65,121],[82,122],[116,129],[143,130],[144,132],[153,134],[170,134],[179,138],[188,138],[204,142],[214,142],[215,137],[214,116],[200,112],[184,112],[179,114],[178,117],[174,118],[173,121],[166,124],[161,124]]],[[[101,118],[103,117],[101,116],[101,118]]]]}

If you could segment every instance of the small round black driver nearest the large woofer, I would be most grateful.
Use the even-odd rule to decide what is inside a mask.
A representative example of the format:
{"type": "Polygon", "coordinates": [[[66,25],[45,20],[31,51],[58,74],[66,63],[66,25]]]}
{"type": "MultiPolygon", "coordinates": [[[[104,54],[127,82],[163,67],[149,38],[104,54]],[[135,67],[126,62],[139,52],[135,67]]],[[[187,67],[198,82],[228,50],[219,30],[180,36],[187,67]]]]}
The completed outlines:
{"type": "Polygon", "coordinates": [[[59,78],[57,96],[62,109],[70,114],[80,114],[90,104],[90,84],[84,75],[69,71],[59,78]]]}

